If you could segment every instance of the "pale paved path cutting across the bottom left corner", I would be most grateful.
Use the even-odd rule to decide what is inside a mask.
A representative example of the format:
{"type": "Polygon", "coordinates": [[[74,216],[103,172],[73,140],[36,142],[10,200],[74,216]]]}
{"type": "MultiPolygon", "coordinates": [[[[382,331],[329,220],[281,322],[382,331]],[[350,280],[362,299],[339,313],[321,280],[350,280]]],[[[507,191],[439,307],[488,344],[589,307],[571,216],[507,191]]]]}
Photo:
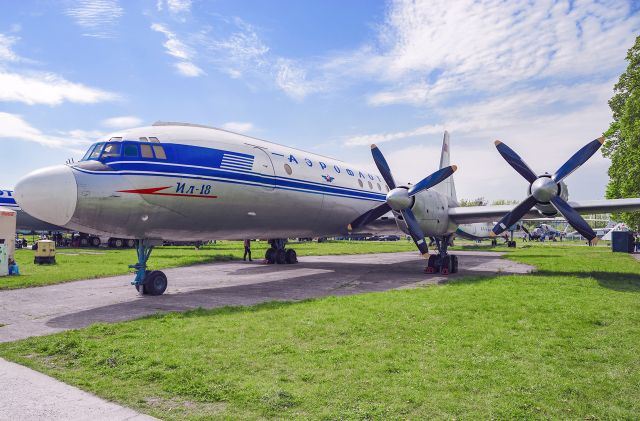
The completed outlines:
{"type": "Polygon", "coordinates": [[[155,419],[0,358],[0,420],[155,419]]]}

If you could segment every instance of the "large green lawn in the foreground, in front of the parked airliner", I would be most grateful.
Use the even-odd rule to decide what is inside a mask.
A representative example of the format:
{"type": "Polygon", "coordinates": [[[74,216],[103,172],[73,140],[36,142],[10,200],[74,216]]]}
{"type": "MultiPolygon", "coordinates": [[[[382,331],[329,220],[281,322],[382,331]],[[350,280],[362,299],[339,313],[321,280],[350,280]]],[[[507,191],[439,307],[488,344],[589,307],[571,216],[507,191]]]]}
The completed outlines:
{"type": "Polygon", "coordinates": [[[99,324],[0,355],[163,419],[637,418],[640,264],[508,255],[538,272],[99,324]]]}

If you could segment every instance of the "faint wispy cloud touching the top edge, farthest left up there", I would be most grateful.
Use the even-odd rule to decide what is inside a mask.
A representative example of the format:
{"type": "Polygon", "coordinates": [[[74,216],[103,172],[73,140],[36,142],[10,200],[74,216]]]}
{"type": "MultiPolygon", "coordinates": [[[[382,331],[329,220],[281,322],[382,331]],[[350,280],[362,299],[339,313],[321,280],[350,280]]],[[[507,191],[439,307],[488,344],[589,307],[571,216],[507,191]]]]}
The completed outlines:
{"type": "Polygon", "coordinates": [[[124,11],[117,0],[76,0],[65,14],[85,31],[82,35],[111,38],[124,11]]]}

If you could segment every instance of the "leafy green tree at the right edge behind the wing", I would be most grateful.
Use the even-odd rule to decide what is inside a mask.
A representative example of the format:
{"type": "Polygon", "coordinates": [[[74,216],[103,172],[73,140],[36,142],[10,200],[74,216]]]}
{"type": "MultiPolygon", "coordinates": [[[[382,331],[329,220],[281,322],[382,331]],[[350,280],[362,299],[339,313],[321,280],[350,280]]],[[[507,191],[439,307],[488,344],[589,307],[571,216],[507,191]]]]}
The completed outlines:
{"type": "MultiPolygon", "coordinates": [[[[613,122],[605,132],[602,155],[611,159],[607,198],[640,197],[640,36],[627,52],[629,62],[609,100],[613,122]]],[[[613,215],[640,227],[640,212],[613,215]]]]}

